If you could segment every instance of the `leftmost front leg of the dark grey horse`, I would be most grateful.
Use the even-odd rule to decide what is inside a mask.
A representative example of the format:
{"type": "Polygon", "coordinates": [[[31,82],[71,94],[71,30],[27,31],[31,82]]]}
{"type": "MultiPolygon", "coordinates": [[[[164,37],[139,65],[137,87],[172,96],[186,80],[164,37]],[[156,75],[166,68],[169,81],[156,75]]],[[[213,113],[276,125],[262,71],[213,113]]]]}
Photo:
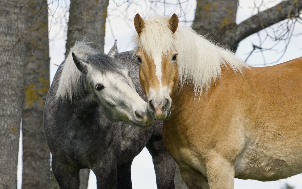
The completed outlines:
{"type": "Polygon", "coordinates": [[[51,158],[51,168],[61,189],[79,189],[80,169],[72,168],[69,165],[63,165],[61,162],[57,161],[54,156],[51,158]]]}

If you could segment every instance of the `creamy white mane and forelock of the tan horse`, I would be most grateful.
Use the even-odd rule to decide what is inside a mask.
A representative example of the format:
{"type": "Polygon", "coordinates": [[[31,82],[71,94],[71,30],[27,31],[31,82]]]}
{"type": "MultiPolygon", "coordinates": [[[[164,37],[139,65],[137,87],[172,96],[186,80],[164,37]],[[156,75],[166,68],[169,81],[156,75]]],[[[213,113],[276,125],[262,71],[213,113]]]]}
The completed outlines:
{"type": "Polygon", "coordinates": [[[140,36],[137,34],[134,38],[135,51],[142,48],[150,56],[158,51],[168,54],[175,48],[180,86],[191,83],[195,97],[203,91],[207,93],[211,82],[215,83],[220,78],[223,66],[230,66],[235,73],[242,73],[244,68],[248,68],[230,49],[208,41],[191,27],[178,25],[173,35],[168,21],[169,17],[165,16],[146,20],[140,36]]]}

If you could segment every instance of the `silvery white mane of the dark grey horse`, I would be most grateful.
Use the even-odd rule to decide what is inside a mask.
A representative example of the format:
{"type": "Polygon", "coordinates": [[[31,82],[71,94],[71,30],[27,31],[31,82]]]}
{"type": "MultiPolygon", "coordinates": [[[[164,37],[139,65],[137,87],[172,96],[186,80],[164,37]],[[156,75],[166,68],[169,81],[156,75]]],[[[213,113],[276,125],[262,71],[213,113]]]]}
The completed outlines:
{"type": "Polygon", "coordinates": [[[65,61],[62,63],[61,77],[56,92],[57,100],[72,101],[73,96],[82,96],[85,90],[83,88],[83,86],[85,86],[84,76],[73,62],[72,52],[83,60],[87,60],[89,55],[99,54],[98,51],[85,42],[85,39],[83,41],[76,41],[75,45],[70,48],[65,61]]]}

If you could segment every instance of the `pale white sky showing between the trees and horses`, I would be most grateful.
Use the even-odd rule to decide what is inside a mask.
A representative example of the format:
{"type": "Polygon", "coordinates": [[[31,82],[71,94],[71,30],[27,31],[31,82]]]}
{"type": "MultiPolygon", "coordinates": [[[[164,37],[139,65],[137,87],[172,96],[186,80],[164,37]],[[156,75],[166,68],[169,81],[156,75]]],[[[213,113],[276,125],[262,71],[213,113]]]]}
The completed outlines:
{"type": "MultiPolygon", "coordinates": [[[[152,15],[154,10],[156,14],[159,15],[169,15],[172,13],[176,13],[178,16],[183,15],[183,12],[186,12],[186,16],[181,17],[180,21],[186,19],[189,21],[187,24],[191,25],[194,19],[196,1],[189,0],[185,4],[182,4],[182,14],[180,14],[180,8],[178,5],[166,5],[165,8],[162,3],[157,3],[157,5],[151,5],[149,2],[133,0],[136,5],[131,5],[128,10],[125,10],[127,4],[119,6],[117,8],[116,2],[120,5],[122,0],[115,0],[114,2],[110,0],[108,7],[108,18],[106,22],[106,36],[105,36],[105,47],[104,52],[107,53],[111,46],[114,44],[114,40],[117,39],[117,46],[119,52],[132,50],[132,37],[135,33],[133,26],[133,18],[136,13],[140,13],[143,18],[147,18],[148,15],[152,15]],[[127,18],[125,21],[124,18],[127,18]],[[113,31],[113,32],[112,32],[113,31]]],[[[181,0],[184,2],[185,0],[181,0]]],[[[172,2],[172,0],[166,0],[165,2],[172,2]]],[[[255,1],[256,5],[259,5],[261,0],[255,1]]],[[[270,8],[281,2],[280,0],[270,1],[265,0],[265,7],[270,8]]],[[[56,72],[57,66],[54,64],[60,64],[64,60],[65,53],[65,43],[66,43],[66,23],[68,20],[68,14],[62,14],[63,8],[67,7],[69,4],[68,0],[60,1],[59,7],[57,7],[58,3],[55,1],[52,5],[50,5],[49,14],[53,15],[55,12],[55,18],[51,18],[49,16],[49,38],[50,40],[50,80],[52,81],[53,76],[56,72]],[[56,9],[57,8],[57,9],[56,9]],[[56,11],[54,11],[56,9],[56,11]],[[61,19],[63,18],[63,19],[61,19]]],[[[239,1],[239,9],[237,12],[237,20],[236,23],[244,21],[249,18],[251,15],[255,15],[257,13],[257,9],[254,7],[254,1],[252,0],[240,0],[239,1]]],[[[260,8],[260,11],[265,8],[260,8]]],[[[248,56],[249,52],[252,51],[252,44],[259,45],[259,36],[263,40],[266,36],[266,32],[272,34],[274,29],[278,28],[278,24],[275,24],[272,29],[266,29],[266,31],[261,31],[258,34],[253,34],[247,37],[245,40],[239,43],[239,47],[236,52],[236,56],[245,60],[248,56]]],[[[294,33],[302,32],[302,25],[297,24],[294,33]]],[[[264,48],[270,48],[274,45],[273,40],[266,40],[266,42],[262,45],[264,48]]],[[[284,49],[284,42],[280,42],[273,48],[273,51],[267,51],[263,53],[265,57],[265,61],[262,57],[262,53],[257,52],[253,53],[252,56],[248,59],[247,63],[251,66],[258,65],[263,66],[264,63],[269,64],[275,62],[281,56],[281,52],[284,49]]],[[[288,61],[297,57],[302,56],[302,35],[298,37],[293,37],[288,45],[286,53],[278,62],[274,64],[278,64],[284,61],[288,61]]],[[[269,64],[273,65],[273,64],[269,64]]],[[[22,139],[21,139],[22,141],[22,139]]],[[[20,145],[21,146],[21,145],[20,145]]],[[[22,146],[21,146],[22,149],[22,146]]],[[[22,160],[22,154],[19,154],[19,159],[22,160]],[[21,158],[20,158],[21,157],[21,158]]],[[[22,162],[18,164],[18,180],[21,179],[21,170],[22,170],[22,162]]],[[[91,171],[92,173],[92,171],[91,171]]],[[[156,179],[154,168],[152,164],[152,158],[146,148],[134,158],[132,169],[132,183],[133,189],[154,189],[156,188],[156,179]]],[[[22,180],[22,179],[21,179],[22,180]]],[[[302,189],[302,174],[293,176],[291,178],[279,180],[279,181],[271,181],[271,182],[260,182],[254,180],[240,180],[235,179],[235,188],[244,188],[244,189],[279,189],[281,186],[284,186],[284,183],[287,182],[291,186],[294,186],[296,189],[302,189]]],[[[21,188],[21,183],[18,184],[18,189],[21,188]]],[[[91,174],[89,178],[88,189],[96,188],[96,179],[95,175],[91,174]]]]}

